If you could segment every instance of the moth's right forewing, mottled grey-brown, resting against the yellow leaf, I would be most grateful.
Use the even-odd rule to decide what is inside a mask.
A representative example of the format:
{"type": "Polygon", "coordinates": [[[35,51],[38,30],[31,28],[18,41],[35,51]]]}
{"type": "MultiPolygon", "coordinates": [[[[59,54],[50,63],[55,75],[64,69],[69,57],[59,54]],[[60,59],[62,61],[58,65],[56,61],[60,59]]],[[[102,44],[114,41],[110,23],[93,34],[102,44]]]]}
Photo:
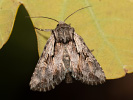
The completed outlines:
{"type": "Polygon", "coordinates": [[[75,52],[74,55],[76,56],[71,56],[71,59],[74,59],[71,61],[72,76],[76,80],[81,80],[87,84],[103,83],[105,74],[100,64],[92,55],[83,39],[76,33],[74,33],[74,42],[77,54],[75,52]]]}

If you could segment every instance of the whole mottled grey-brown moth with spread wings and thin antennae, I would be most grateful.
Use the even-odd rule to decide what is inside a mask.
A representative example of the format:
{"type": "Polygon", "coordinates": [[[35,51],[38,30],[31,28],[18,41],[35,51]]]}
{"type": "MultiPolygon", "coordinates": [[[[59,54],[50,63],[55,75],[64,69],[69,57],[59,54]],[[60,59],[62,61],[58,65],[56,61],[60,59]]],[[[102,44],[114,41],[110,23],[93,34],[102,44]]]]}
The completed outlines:
{"type": "Polygon", "coordinates": [[[91,85],[105,82],[105,74],[100,64],[74,28],[65,23],[66,19],[64,21],[52,19],[58,24],[55,29],[50,30],[51,36],[31,77],[31,90],[49,91],[64,79],[66,83],[71,83],[72,78],[91,85]]]}

